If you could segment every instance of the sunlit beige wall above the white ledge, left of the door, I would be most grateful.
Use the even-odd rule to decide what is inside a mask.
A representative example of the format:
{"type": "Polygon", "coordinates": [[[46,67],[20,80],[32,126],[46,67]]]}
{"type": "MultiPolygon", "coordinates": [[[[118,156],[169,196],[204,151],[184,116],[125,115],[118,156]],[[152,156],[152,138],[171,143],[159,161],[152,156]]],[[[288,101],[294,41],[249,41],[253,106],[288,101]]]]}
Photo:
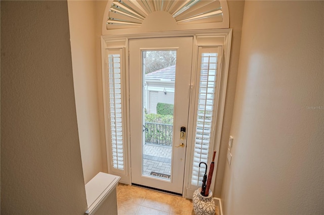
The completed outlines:
{"type": "Polygon", "coordinates": [[[73,82],[85,183],[103,171],[99,127],[95,2],[68,1],[73,82]]]}

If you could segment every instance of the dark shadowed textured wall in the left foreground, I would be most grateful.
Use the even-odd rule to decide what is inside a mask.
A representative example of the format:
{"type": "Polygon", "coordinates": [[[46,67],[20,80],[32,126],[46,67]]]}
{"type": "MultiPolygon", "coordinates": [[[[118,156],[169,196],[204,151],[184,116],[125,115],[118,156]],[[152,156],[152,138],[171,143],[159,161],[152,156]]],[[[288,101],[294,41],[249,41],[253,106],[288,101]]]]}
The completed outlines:
{"type": "Polygon", "coordinates": [[[1,213],[87,209],[66,1],[1,1],[1,213]]]}

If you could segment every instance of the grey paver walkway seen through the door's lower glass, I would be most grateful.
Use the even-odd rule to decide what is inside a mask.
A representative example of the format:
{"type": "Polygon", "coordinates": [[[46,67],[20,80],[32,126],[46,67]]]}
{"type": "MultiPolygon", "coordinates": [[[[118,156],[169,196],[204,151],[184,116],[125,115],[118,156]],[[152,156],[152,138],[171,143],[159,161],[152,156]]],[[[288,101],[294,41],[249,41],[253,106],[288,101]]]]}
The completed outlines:
{"type": "Polygon", "coordinates": [[[150,175],[152,172],[171,175],[171,152],[172,147],[154,144],[144,145],[143,174],[150,175]]]}

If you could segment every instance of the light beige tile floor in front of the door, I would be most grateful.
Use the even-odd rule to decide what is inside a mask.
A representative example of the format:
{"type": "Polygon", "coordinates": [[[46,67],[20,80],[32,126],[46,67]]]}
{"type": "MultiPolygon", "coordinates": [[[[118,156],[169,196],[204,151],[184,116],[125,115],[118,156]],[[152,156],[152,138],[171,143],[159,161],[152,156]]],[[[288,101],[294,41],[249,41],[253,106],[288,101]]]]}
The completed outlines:
{"type": "Polygon", "coordinates": [[[118,184],[119,215],[129,214],[194,214],[192,200],[140,187],[118,184]]]}

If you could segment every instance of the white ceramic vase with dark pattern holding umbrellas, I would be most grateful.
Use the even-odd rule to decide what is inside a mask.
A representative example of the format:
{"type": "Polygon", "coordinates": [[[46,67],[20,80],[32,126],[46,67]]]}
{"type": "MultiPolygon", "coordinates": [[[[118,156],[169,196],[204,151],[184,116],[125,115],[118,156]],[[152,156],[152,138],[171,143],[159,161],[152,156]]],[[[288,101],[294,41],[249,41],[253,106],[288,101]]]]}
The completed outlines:
{"type": "Polygon", "coordinates": [[[196,215],[214,215],[216,204],[213,199],[213,193],[209,190],[208,196],[200,194],[201,188],[195,190],[192,196],[193,210],[196,215]]]}

